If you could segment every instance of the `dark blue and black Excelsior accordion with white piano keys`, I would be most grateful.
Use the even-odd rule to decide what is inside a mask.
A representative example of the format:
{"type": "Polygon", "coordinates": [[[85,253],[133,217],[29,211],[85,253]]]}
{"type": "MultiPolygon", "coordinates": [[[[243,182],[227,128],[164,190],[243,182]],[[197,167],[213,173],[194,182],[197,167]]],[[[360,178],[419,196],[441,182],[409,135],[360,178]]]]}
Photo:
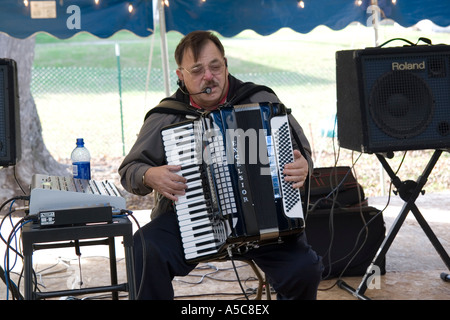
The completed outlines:
{"type": "Polygon", "coordinates": [[[186,261],[303,231],[300,191],[283,176],[294,160],[283,104],[221,107],[161,135],[167,163],[187,179],[174,204],[186,261]]]}

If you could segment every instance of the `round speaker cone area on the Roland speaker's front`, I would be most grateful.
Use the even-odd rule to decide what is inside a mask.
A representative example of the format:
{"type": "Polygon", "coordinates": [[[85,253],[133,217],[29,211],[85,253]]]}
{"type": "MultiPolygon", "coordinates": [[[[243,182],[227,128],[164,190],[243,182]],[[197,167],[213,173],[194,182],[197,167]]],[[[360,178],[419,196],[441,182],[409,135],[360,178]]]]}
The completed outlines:
{"type": "Polygon", "coordinates": [[[385,134],[412,138],[422,133],[433,118],[433,95],[427,83],[413,73],[389,72],[372,87],[369,112],[385,134]]]}

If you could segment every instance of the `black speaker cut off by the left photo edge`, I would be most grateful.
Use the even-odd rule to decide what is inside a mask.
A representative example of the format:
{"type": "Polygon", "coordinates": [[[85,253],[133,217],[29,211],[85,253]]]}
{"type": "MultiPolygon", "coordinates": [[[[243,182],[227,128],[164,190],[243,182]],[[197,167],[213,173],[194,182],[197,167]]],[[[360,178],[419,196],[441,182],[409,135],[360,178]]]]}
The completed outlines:
{"type": "Polygon", "coordinates": [[[17,65],[0,59],[0,166],[15,165],[20,158],[20,115],[17,65]]]}

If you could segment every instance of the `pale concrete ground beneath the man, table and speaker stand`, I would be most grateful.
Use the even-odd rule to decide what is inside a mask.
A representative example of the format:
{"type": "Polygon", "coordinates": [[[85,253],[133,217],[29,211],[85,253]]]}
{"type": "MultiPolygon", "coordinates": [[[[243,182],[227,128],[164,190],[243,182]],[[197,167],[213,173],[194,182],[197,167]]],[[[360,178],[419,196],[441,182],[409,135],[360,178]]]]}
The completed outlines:
{"type": "MultiPolygon", "coordinates": [[[[385,207],[387,197],[369,199],[369,205],[378,209],[385,207]]],[[[416,201],[417,207],[431,226],[443,247],[450,252],[450,193],[425,194],[416,201]]],[[[389,232],[398,216],[403,201],[398,197],[390,200],[384,212],[386,230],[389,232]]],[[[149,220],[148,211],[136,211],[134,216],[142,225],[149,220]]],[[[135,226],[136,228],[136,226],[135,226]]],[[[2,235],[8,236],[7,224],[2,235]]],[[[337,239],[338,240],[338,239],[337,239]]],[[[116,239],[119,282],[125,281],[125,262],[120,239],[116,239]]],[[[2,263],[5,247],[0,247],[2,263]]],[[[12,257],[10,256],[12,259],[12,257]]],[[[41,291],[66,290],[109,284],[108,250],[103,246],[83,247],[77,257],[73,248],[40,250],[33,256],[34,270],[41,291]]],[[[11,277],[19,280],[21,261],[17,260],[11,277]]],[[[244,263],[236,262],[236,272],[231,262],[200,264],[187,277],[173,281],[177,300],[244,300],[244,290],[253,299],[258,282],[253,271],[244,263]],[[239,281],[237,280],[236,272],[239,281]],[[241,288],[242,286],[242,288],[241,288]]],[[[450,282],[440,278],[442,272],[450,273],[448,267],[431,245],[412,213],[400,228],[386,255],[386,274],[373,279],[374,288],[365,296],[375,300],[450,300],[450,282]]],[[[357,300],[355,296],[337,285],[338,279],[324,280],[320,284],[319,300],[357,300]]],[[[357,288],[362,276],[344,277],[347,285],[357,288]]],[[[23,283],[23,281],[22,281],[23,283]]],[[[126,293],[120,294],[127,299],[126,293]]],[[[0,281],[0,299],[6,299],[6,286],[0,281]]],[[[11,295],[8,295],[11,299],[11,295]]],[[[80,297],[79,297],[80,298],[80,297]]],[[[110,294],[97,294],[91,299],[111,299],[110,294]]],[[[263,299],[266,296],[263,295],[263,299]]],[[[272,294],[272,299],[275,295],[272,294]]],[[[55,298],[59,299],[59,298],[55,298]]]]}

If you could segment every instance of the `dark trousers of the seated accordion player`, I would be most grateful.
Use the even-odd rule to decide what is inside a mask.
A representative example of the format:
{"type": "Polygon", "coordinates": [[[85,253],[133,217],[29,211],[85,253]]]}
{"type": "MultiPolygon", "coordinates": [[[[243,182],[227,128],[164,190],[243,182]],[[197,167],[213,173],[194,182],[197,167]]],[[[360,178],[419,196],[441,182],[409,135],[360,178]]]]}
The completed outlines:
{"type": "MultiPolygon", "coordinates": [[[[195,264],[184,260],[173,212],[159,215],[136,232],[134,257],[137,298],[143,300],[173,299],[173,278],[185,276],[195,268],[195,264]]],[[[252,249],[245,257],[266,274],[279,299],[316,299],[323,265],[306,243],[304,233],[281,244],[252,249]]]]}

